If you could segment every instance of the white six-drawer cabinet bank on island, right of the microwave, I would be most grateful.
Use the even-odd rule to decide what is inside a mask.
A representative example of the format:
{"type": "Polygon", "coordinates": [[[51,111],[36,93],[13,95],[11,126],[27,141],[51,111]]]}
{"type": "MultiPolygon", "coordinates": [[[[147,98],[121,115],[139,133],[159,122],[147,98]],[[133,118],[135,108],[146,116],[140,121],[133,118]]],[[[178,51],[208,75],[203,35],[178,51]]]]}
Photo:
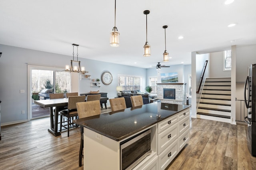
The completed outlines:
{"type": "Polygon", "coordinates": [[[190,109],[158,123],[158,168],[164,170],[188,143],[190,109]]]}

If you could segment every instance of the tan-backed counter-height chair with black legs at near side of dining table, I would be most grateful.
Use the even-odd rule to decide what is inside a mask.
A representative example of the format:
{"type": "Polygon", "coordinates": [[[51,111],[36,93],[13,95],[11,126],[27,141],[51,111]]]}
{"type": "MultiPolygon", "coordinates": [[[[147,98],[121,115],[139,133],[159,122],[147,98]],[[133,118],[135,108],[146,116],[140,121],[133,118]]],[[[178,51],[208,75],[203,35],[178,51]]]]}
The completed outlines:
{"type": "Polygon", "coordinates": [[[68,137],[69,137],[69,128],[71,123],[71,118],[77,117],[77,109],[76,103],[77,102],[84,102],[85,96],[70,96],[68,97],[68,109],[60,111],[60,132],[62,131],[62,127],[68,129],[68,137]],[[67,125],[62,124],[62,117],[66,117],[68,119],[67,125]]]}

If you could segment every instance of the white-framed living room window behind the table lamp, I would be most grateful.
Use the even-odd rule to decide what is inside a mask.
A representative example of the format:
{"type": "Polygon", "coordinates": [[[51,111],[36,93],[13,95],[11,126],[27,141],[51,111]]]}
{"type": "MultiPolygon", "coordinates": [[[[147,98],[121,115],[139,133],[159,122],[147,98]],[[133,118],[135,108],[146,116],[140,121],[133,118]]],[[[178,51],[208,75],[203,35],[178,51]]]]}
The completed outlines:
{"type": "Polygon", "coordinates": [[[141,76],[118,75],[118,86],[122,86],[122,91],[141,90],[141,76]]]}

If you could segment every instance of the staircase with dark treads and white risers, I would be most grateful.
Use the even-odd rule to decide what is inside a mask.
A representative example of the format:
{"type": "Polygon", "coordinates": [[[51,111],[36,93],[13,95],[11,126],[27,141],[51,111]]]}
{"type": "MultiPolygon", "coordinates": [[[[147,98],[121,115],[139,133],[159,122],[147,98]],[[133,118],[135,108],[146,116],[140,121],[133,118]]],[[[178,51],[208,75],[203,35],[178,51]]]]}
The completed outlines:
{"type": "Polygon", "coordinates": [[[197,117],[230,123],[231,78],[206,78],[197,117]]]}

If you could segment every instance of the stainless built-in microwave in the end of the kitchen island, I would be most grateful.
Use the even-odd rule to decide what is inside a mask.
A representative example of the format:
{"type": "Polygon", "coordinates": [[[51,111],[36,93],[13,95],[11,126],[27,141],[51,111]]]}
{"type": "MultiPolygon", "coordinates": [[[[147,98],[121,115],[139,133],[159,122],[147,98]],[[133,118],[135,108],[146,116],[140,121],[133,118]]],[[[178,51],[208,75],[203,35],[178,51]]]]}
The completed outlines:
{"type": "Polygon", "coordinates": [[[151,130],[120,143],[120,169],[130,170],[151,154],[151,130]]]}

